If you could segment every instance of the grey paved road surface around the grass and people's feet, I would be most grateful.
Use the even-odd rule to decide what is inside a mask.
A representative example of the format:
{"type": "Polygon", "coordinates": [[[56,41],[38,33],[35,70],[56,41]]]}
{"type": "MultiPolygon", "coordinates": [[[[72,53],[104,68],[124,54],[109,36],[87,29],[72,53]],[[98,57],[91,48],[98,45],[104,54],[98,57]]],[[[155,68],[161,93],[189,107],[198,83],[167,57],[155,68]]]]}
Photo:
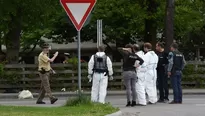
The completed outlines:
{"type": "MultiPolygon", "coordinates": [[[[18,99],[0,99],[1,105],[15,106],[41,106],[41,107],[58,107],[62,106],[67,98],[61,97],[59,101],[50,105],[49,100],[45,101],[46,105],[36,105],[35,99],[18,100],[18,99]]],[[[123,113],[129,113],[125,116],[204,116],[205,115],[205,95],[185,95],[184,103],[180,105],[156,104],[146,107],[126,108],[125,96],[109,96],[107,102],[119,107],[123,113]],[[131,115],[132,114],[132,115],[131,115]],[[135,115],[136,114],[136,115],[135,115]]]]}

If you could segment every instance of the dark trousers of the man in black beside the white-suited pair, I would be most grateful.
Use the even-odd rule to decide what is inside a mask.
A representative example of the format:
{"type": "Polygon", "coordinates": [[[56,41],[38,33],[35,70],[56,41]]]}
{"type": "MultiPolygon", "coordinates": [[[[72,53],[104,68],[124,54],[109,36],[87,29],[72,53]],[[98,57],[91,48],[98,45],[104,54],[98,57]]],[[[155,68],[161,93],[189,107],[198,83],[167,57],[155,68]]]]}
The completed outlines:
{"type": "Polygon", "coordinates": [[[168,77],[164,70],[157,71],[157,81],[160,100],[169,100],[168,77]]]}

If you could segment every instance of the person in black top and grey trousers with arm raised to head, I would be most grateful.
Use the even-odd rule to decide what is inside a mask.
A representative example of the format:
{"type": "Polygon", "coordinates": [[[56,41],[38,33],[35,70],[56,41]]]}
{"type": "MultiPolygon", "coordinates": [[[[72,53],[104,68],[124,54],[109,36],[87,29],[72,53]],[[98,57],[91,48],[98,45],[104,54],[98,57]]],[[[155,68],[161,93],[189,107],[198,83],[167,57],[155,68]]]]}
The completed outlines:
{"type": "Polygon", "coordinates": [[[133,46],[128,44],[125,48],[119,49],[120,53],[123,55],[123,77],[124,83],[126,86],[126,94],[127,94],[127,107],[128,106],[136,106],[136,67],[135,62],[138,60],[139,65],[142,65],[144,61],[133,52],[133,46]],[[131,93],[132,92],[132,93],[131,93]],[[131,100],[132,96],[132,100],[131,100]],[[132,101],[132,103],[131,103],[132,101]]]}

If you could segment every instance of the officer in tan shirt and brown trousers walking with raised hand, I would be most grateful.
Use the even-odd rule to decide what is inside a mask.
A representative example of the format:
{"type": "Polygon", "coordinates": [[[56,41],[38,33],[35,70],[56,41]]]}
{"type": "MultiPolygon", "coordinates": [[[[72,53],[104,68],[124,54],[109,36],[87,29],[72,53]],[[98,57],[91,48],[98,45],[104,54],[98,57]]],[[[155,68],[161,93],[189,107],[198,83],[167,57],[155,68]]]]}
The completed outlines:
{"type": "Polygon", "coordinates": [[[49,45],[44,44],[42,46],[42,49],[42,52],[38,56],[38,71],[41,78],[41,89],[36,104],[45,104],[45,102],[43,102],[42,100],[44,99],[46,93],[50,98],[51,104],[54,104],[58,99],[51,94],[49,76],[50,72],[54,71],[50,66],[50,62],[53,62],[56,59],[56,57],[58,56],[58,52],[56,52],[54,56],[50,59],[48,57],[49,45]]]}

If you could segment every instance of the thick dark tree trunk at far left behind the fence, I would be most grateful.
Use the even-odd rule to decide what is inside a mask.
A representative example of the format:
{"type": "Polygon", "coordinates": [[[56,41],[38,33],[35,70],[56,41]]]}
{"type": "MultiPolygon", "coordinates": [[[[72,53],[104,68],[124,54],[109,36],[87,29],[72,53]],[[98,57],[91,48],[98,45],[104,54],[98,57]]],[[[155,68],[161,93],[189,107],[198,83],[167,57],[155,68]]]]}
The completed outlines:
{"type": "Polygon", "coordinates": [[[6,58],[8,63],[18,63],[20,50],[21,16],[20,10],[16,16],[11,15],[9,32],[6,34],[6,58]]]}

